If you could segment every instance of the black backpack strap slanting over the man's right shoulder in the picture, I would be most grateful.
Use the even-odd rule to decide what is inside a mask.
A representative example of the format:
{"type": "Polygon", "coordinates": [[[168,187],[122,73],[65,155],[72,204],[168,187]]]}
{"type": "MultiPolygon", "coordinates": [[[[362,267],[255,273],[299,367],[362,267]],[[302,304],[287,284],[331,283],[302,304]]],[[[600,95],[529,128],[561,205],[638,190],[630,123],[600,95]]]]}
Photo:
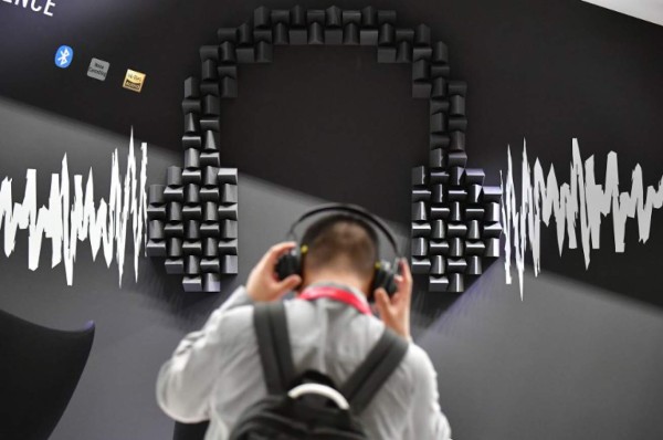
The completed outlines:
{"type": "Polygon", "coordinates": [[[352,412],[359,415],[366,409],[382,384],[399,366],[408,347],[402,337],[385,327],[382,336],[366,359],[340,387],[340,392],[350,402],[352,412]]]}

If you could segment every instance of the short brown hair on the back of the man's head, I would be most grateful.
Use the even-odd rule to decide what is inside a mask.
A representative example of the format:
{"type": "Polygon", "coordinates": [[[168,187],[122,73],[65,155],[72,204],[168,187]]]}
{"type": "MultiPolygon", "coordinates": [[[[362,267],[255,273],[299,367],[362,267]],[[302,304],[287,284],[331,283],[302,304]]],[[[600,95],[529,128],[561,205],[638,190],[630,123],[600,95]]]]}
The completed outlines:
{"type": "Polygon", "coordinates": [[[326,216],[311,224],[302,244],[308,248],[304,265],[309,270],[336,265],[371,277],[378,261],[376,231],[366,221],[347,213],[326,216]]]}

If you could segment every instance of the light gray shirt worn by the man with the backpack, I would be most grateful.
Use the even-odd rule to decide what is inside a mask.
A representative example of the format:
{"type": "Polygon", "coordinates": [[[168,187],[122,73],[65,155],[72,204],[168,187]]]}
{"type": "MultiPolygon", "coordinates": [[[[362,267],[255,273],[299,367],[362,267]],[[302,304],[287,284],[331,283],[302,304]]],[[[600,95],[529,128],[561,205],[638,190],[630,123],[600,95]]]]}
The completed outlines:
{"type": "MultiPolygon", "coordinates": [[[[366,296],[345,287],[366,302],[366,296]]],[[[224,440],[252,404],[266,396],[253,301],[243,286],[188,334],[157,379],[157,401],[181,422],[210,420],[206,440],[224,440]]],[[[343,384],[380,338],[385,324],[330,298],[285,301],[293,360],[343,384]]],[[[393,374],[359,416],[375,440],[448,440],[436,374],[427,353],[410,343],[393,374]]]]}

